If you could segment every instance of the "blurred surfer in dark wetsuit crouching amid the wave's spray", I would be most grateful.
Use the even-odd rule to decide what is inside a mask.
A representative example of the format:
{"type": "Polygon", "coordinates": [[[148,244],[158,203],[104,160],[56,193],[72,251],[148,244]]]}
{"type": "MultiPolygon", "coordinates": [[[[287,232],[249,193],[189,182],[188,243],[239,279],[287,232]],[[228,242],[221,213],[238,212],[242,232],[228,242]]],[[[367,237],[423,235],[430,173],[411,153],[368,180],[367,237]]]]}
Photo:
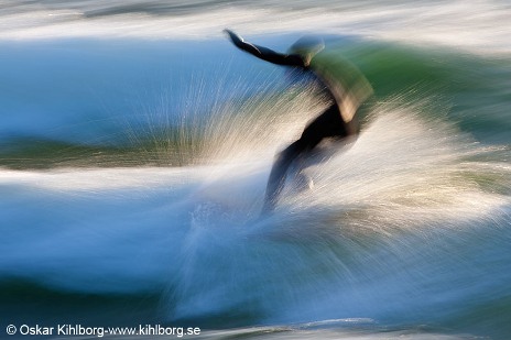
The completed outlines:
{"type": "Polygon", "coordinates": [[[322,114],[307,124],[297,141],[276,155],[268,179],[263,204],[263,211],[271,211],[275,208],[284,188],[286,172],[293,161],[309,153],[325,138],[345,140],[358,134],[359,127],[355,113],[372,94],[372,89],[359,72],[354,72],[352,66],[335,66],[335,58],[325,57],[326,54],[323,52],[325,44],[322,39],[304,36],[296,41],[286,54],[282,54],[248,43],[231,30],[225,32],[238,48],[260,59],[292,67],[304,75],[312,75],[331,102],[322,114]],[[336,75],[339,68],[345,68],[340,72],[346,73],[340,77],[336,75]]]}

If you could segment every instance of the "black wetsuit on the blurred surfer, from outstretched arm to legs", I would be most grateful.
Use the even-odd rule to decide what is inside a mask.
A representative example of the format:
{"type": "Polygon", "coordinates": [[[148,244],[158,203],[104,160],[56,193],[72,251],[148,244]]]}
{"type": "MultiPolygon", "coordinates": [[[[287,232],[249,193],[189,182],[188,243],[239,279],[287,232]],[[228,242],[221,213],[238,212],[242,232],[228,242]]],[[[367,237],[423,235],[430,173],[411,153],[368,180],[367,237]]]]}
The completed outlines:
{"type": "Polygon", "coordinates": [[[286,172],[290,165],[300,155],[309,152],[325,138],[346,138],[348,135],[355,135],[358,133],[358,125],[355,119],[346,122],[343,119],[340,112],[339,100],[333,94],[333,90],[328,86],[327,81],[324,81],[314,69],[309,67],[309,61],[300,54],[281,54],[270,48],[253,45],[244,42],[232,31],[226,30],[229,34],[232,43],[240,50],[252,54],[253,56],[270,62],[272,64],[296,67],[303,72],[314,73],[316,78],[323,83],[325,89],[329,92],[333,103],[315,120],[313,120],[302,133],[302,136],[283,150],[275,158],[270,178],[267,185],[267,193],[264,198],[263,211],[273,210],[279,196],[284,188],[286,172]]]}

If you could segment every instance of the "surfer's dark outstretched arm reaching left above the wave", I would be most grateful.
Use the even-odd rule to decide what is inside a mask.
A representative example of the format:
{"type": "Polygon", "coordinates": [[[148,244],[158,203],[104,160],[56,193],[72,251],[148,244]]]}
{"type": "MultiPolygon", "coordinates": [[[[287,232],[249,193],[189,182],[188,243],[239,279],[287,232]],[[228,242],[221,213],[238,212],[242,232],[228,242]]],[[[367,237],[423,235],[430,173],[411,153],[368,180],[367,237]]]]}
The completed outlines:
{"type": "Polygon", "coordinates": [[[282,54],[270,48],[247,43],[241,36],[230,30],[224,30],[236,47],[250,53],[251,55],[276,65],[305,67],[303,58],[295,54],[282,54]]]}

